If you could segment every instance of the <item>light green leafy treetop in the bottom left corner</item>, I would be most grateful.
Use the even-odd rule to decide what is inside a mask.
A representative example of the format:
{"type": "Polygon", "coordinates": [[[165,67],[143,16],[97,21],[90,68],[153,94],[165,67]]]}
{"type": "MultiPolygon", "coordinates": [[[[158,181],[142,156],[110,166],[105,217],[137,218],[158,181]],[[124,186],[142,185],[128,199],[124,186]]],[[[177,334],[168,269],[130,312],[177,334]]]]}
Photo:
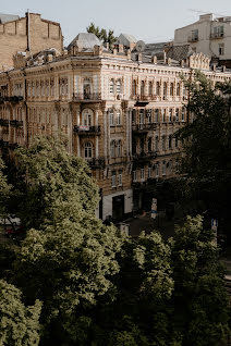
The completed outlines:
{"type": "Polygon", "coordinates": [[[41,304],[26,307],[19,288],[0,280],[0,345],[37,346],[41,304]]]}

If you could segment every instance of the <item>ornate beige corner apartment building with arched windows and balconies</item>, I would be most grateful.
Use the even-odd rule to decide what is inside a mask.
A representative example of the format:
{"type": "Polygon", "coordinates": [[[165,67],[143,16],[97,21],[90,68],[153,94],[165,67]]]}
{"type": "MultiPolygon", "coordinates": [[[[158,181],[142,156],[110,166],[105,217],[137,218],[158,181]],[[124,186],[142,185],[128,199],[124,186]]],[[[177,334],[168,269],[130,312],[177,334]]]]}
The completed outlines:
{"type": "Polygon", "coordinates": [[[192,77],[193,69],[214,83],[231,78],[209,70],[203,54],[178,63],[122,46],[76,45],[34,59],[16,54],[14,69],[0,73],[1,149],[65,133],[68,150],[87,160],[98,182],[98,217],[119,219],[144,207],[144,186],[174,175],[181,144],[173,134],[190,121],[181,75],[192,77]]]}

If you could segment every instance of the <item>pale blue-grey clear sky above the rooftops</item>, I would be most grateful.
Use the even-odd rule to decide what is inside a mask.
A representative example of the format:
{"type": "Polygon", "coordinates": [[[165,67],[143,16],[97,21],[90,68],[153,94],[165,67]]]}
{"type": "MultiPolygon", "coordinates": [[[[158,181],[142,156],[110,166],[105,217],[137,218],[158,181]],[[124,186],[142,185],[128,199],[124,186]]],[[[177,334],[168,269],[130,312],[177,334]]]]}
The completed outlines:
{"type": "Polygon", "coordinates": [[[194,23],[200,14],[231,15],[230,0],[8,0],[1,13],[24,16],[26,11],[59,22],[64,45],[85,33],[90,22],[112,28],[114,35],[132,34],[146,44],[167,41],[174,29],[194,23]]]}

